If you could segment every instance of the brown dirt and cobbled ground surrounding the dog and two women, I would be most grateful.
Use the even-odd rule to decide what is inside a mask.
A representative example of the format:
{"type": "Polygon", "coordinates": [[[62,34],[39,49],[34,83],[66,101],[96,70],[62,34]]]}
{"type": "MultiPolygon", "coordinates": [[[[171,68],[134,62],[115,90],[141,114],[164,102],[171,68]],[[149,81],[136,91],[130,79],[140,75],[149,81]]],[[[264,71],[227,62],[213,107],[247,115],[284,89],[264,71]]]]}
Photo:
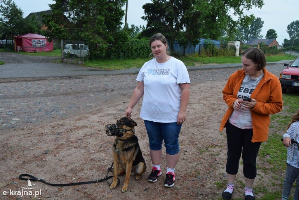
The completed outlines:
{"type": "MultiPolygon", "coordinates": [[[[267,67],[277,76],[283,68],[282,64],[267,67]]],[[[218,130],[227,109],[222,89],[237,69],[189,71],[190,102],[180,133],[181,155],[172,188],[163,186],[164,147],[163,175],[155,183],[147,181],[151,161],[146,130],[139,118],[141,101],[135,106],[132,118],[137,122],[135,134],[147,170],[138,181],[131,177],[126,193],[121,193],[124,176],[120,176],[120,185],[114,190],[109,189],[106,181],[67,187],[32,182],[35,185],[31,191],[41,190],[41,195],[9,195],[10,190],[19,191],[27,186],[27,181],[18,179],[23,173],[56,184],[105,178],[113,161],[114,140],[106,135],[105,125],[124,116],[136,86],[136,74],[2,81],[0,199],[222,199],[226,186],[226,138],[225,131],[218,130]],[[8,192],[6,196],[4,191],[8,192]]],[[[270,129],[270,134],[274,131],[270,129]]],[[[281,190],[268,184],[267,177],[271,175],[259,173],[263,179],[257,178],[256,184],[264,181],[268,190],[281,190]]],[[[233,199],[243,199],[242,166],[237,179],[233,199]]],[[[260,195],[256,198],[261,198],[260,195]]]]}

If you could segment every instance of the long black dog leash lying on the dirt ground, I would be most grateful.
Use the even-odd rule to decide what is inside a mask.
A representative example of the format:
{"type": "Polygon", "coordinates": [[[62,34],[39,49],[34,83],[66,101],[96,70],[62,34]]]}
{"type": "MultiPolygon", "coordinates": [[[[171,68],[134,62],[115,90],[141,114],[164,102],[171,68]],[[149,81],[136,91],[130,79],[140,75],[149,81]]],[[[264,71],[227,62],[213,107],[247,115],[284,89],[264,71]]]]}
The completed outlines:
{"type": "MultiPolygon", "coordinates": [[[[51,186],[60,186],[60,187],[63,187],[63,186],[72,186],[72,185],[83,185],[83,184],[90,184],[90,183],[100,183],[100,182],[103,182],[103,181],[107,181],[107,183],[108,183],[108,179],[113,178],[113,176],[109,176],[109,177],[107,177],[107,176],[108,176],[108,173],[109,173],[109,171],[110,171],[110,169],[112,168],[112,166],[113,166],[113,162],[112,162],[111,167],[108,169],[106,178],[103,178],[103,179],[97,179],[97,180],[95,180],[95,181],[84,181],[84,182],[65,183],[65,184],[53,184],[53,183],[48,183],[48,182],[46,182],[46,181],[44,180],[44,178],[36,178],[35,176],[30,175],[30,174],[21,174],[21,175],[19,175],[19,179],[21,179],[21,180],[25,180],[25,181],[27,181],[27,180],[30,180],[30,181],[41,181],[41,182],[43,182],[43,183],[45,183],[45,184],[48,184],[48,185],[51,185],[51,186]],[[23,178],[24,176],[27,176],[27,177],[30,177],[30,178],[23,178]]],[[[119,178],[117,178],[117,179],[118,179],[118,183],[117,183],[117,185],[119,185],[119,184],[120,184],[120,180],[119,180],[119,178]]],[[[109,184],[109,183],[108,183],[108,184],[109,184]]],[[[111,184],[109,184],[109,185],[111,185],[111,184]]]]}

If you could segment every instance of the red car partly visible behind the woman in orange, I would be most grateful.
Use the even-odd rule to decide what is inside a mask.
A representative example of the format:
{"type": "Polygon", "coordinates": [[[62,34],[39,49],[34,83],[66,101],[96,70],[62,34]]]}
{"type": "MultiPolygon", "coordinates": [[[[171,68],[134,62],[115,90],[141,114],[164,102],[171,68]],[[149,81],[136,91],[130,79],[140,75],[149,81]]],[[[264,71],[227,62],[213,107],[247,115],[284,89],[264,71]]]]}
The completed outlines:
{"type": "Polygon", "coordinates": [[[290,66],[288,63],[283,65],[286,69],[279,75],[282,92],[286,92],[287,89],[299,89],[299,57],[290,66]]]}

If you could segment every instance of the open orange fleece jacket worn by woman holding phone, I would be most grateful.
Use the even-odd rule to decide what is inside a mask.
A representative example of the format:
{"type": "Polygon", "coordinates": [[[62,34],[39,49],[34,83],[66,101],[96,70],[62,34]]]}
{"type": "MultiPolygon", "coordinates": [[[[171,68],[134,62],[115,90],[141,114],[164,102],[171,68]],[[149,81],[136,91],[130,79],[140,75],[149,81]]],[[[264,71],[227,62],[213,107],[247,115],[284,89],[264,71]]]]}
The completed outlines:
{"type": "MultiPolygon", "coordinates": [[[[253,136],[251,142],[264,142],[268,139],[270,115],[278,113],[283,107],[282,90],[279,79],[263,69],[264,76],[251,94],[257,100],[251,109],[253,136]]],[[[222,91],[223,99],[229,106],[223,116],[219,131],[226,126],[226,122],[234,111],[233,104],[245,77],[244,70],[237,70],[229,78],[222,91]]]]}

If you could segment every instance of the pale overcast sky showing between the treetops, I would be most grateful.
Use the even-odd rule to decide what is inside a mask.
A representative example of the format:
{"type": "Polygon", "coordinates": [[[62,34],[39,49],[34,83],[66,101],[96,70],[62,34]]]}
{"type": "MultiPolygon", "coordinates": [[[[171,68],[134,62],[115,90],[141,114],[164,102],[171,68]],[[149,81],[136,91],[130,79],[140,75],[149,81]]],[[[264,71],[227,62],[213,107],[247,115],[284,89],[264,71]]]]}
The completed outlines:
{"type": "MultiPolygon", "coordinates": [[[[55,1],[52,0],[30,0],[30,3],[28,3],[28,0],[13,1],[18,8],[22,9],[24,18],[31,12],[48,10],[50,9],[48,4],[55,3],[55,1]]],[[[129,0],[127,23],[129,25],[146,26],[146,22],[141,19],[141,16],[144,15],[142,5],[151,2],[151,0],[129,0]]],[[[264,21],[264,26],[261,32],[261,35],[264,37],[269,29],[274,29],[277,33],[276,40],[282,45],[285,38],[289,39],[289,34],[286,32],[287,26],[291,22],[299,20],[299,0],[264,0],[264,3],[265,4],[261,9],[253,8],[246,13],[254,14],[255,17],[260,17],[264,21]]]]}

